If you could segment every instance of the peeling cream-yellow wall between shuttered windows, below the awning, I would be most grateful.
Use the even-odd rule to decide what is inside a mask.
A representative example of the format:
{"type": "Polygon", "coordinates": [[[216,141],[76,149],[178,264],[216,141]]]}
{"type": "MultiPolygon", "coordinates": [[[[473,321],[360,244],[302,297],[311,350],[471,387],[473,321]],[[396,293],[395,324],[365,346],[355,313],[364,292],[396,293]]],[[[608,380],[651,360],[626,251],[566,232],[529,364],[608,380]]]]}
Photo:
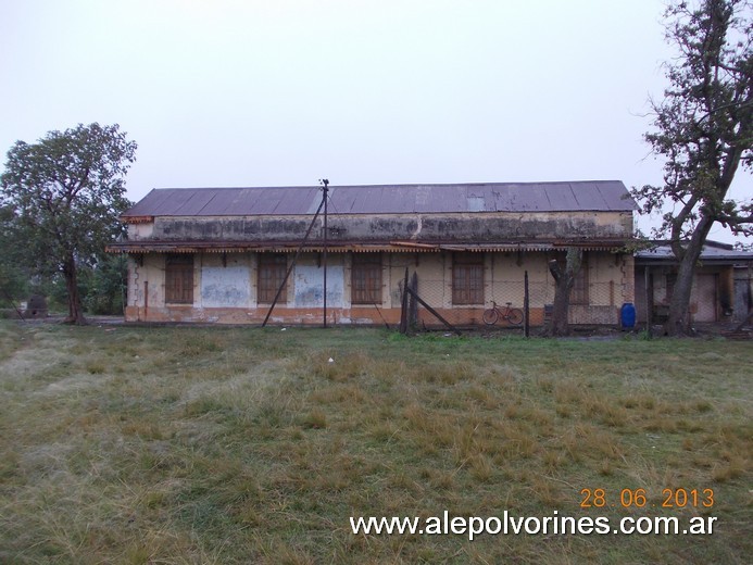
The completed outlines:
{"type": "MultiPolygon", "coordinates": [[[[574,323],[617,323],[619,306],[632,301],[632,258],[608,252],[587,252],[589,269],[588,306],[574,307],[574,323]]],[[[193,263],[193,304],[165,304],[165,256],[153,253],[142,260],[129,260],[128,321],[153,322],[216,322],[251,323],[263,321],[267,304],[256,303],[258,254],[199,253],[193,263]],[[236,284],[226,282],[226,271],[236,284]],[[203,280],[202,280],[203,275],[203,280]],[[147,285],[145,285],[147,284],[147,285]],[[242,288],[235,288],[235,286],[242,288]],[[148,291],[148,298],[145,294],[148,291]]],[[[342,300],[336,306],[328,305],[328,319],[338,324],[394,324],[400,317],[401,286],[407,267],[410,275],[418,276],[418,293],[432,307],[453,324],[480,324],[484,310],[491,301],[503,305],[524,303],[524,273],[528,272],[531,323],[543,322],[545,304],[554,300],[554,281],[549,273],[548,261],[553,255],[545,252],[515,252],[484,254],[484,303],[475,305],[452,304],[452,253],[382,253],[382,302],[374,305],[352,306],[350,303],[350,253],[329,253],[328,264],[339,269],[342,300]]],[[[288,255],[288,261],[292,254],[288,255]]],[[[319,253],[303,253],[299,265],[310,273],[319,265],[319,253]]],[[[303,268],[302,268],[303,269],[303,268]]],[[[329,272],[328,272],[329,273],[329,272]]],[[[298,282],[300,285],[300,280],[298,282]]],[[[287,301],[278,304],[271,317],[275,324],[319,324],[321,307],[301,304],[301,290],[296,289],[297,277],[288,280],[287,301]],[[297,301],[298,290],[298,303],[297,301]]],[[[427,318],[428,319],[428,318],[427,318]]],[[[429,323],[431,321],[428,321],[429,323]]],[[[436,323],[436,319],[432,321],[436,323]]]]}

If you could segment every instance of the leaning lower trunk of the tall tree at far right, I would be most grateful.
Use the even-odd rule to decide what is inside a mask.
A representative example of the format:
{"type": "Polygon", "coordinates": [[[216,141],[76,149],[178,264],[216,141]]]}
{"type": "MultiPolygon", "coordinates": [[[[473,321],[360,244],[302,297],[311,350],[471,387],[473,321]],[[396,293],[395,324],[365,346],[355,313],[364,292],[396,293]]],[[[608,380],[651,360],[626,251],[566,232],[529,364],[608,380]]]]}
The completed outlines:
{"type": "MultiPolygon", "coordinates": [[[[712,225],[713,221],[703,217],[693,231],[688,247],[681,250],[677,279],[669,299],[669,315],[664,324],[664,334],[667,336],[687,336],[692,331],[690,327],[690,293],[693,289],[693,273],[712,225]]],[[[676,249],[676,256],[677,252],[676,249]]]]}

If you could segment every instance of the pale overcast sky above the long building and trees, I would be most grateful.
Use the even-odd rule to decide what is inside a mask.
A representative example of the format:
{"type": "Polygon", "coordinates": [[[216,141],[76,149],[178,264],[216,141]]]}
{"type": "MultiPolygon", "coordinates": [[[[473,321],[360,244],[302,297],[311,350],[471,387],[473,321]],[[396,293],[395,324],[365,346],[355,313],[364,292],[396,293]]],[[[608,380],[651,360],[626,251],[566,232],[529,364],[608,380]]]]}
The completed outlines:
{"type": "Polygon", "coordinates": [[[323,177],[661,184],[642,135],[673,56],[664,4],[0,0],[2,162],[99,122],[139,146],[131,200],[323,177]]]}

